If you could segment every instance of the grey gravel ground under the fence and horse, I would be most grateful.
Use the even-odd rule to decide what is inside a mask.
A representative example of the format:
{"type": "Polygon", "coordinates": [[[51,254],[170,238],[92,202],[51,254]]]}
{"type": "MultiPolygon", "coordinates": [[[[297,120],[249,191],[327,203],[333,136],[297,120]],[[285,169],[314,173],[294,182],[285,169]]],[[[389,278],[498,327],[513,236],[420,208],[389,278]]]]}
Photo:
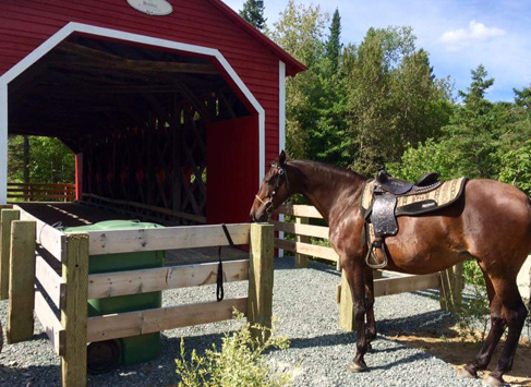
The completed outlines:
{"type": "MultiPolygon", "coordinates": [[[[274,351],[268,358],[278,371],[290,372],[297,387],[328,386],[481,386],[481,380],[460,380],[452,366],[444,361],[391,341],[386,335],[396,331],[441,329],[451,318],[438,307],[438,292],[425,291],[378,298],[375,314],[378,340],[365,360],[371,367],[362,374],[348,374],[347,363],[353,358],[353,335],[338,328],[338,305],[335,302],[338,273],[311,263],[309,269],[294,269],[291,258],[276,261],[274,315],[279,319],[279,335],[287,336],[291,347],[274,351]]],[[[246,282],[226,285],[226,297],[245,297],[246,282]]],[[[210,301],[214,287],[165,292],[165,305],[210,301]]],[[[0,303],[0,317],[5,327],[8,302],[0,303]]],[[[169,386],[177,384],[174,359],[180,338],[188,350],[201,353],[222,332],[238,323],[224,322],[166,331],[162,355],[156,361],[121,366],[117,371],[89,376],[88,386],[169,386]]],[[[59,386],[60,361],[40,325],[34,340],[4,346],[0,354],[0,386],[59,386]]]]}

